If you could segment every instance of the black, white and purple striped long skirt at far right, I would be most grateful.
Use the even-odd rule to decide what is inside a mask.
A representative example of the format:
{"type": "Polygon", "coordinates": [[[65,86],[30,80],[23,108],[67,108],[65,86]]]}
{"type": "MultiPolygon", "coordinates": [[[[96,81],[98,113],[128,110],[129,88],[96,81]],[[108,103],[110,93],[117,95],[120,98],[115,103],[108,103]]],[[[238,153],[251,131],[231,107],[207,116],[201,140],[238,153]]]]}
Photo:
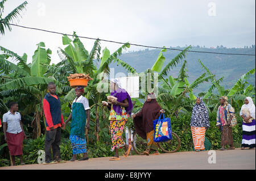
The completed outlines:
{"type": "Polygon", "coordinates": [[[255,119],[251,123],[243,123],[242,129],[242,147],[255,148],[255,119]]]}

